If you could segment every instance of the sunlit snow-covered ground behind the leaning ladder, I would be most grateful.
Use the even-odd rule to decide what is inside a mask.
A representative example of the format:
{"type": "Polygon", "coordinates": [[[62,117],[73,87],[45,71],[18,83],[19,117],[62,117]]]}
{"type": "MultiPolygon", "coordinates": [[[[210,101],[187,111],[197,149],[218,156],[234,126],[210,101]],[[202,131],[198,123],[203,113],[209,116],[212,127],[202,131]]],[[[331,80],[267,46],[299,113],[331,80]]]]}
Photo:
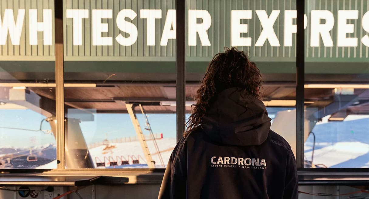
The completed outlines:
{"type": "MultiPolygon", "coordinates": [[[[146,141],[148,148],[150,150],[150,153],[152,155],[152,159],[156,162],[155,167],[156,168],[165,168],[166,164],[168,163],[170,154],[172,153],[173,148],[177,144],[176,138],[162,138],[157,139],[156,143],[158,143],[159,150],[161,151],[161,156],[164,161],[164,165],[161,164],[159,160],[159,156],[155,150],[154,142],[146,141]]],[[[144,152],[142,151],[141,145],[139,141],[133,141],[133,142],[126,142],[126,143],[110,143],[110,145],[115,145],[115,148],[112,148],[111,150],[103,150],[105,146],[90,148],[90,154],[92,156],[92,159],[94,161],[94,164],[96,166],[96,161],[104,162],[104,157],[106,157],[106,163],[108,163],[107,158],[110,156],[114,160],[117,159],[117,156],[123,156],[127,160],[129,160],[129,165],[119,165],[119,166],[111,166],[108,168],[148,168],[146,164],[146,159],[144,152]],[[132,159],[128,156],[134,155],[139,159],[139,164],[132,164],[132,159]],[[97,157],[97,158],[96,158],[97,157]]],[[[106,164],[108,165],[108,164],[106,164]]],[[[105,168],[105,167],[98,167],[98,168],[105,168]]]]}

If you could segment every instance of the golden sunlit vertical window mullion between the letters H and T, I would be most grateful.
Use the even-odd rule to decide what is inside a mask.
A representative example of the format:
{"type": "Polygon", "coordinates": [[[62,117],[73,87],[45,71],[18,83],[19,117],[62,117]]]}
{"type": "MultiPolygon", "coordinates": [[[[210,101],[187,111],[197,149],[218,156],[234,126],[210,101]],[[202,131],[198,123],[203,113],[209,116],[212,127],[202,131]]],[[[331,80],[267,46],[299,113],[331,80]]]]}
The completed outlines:
{"type": "Polygon", "coordinates": [[[55,0],[55,98],[57,169],[65,169],[63,1],[55,0]]]}

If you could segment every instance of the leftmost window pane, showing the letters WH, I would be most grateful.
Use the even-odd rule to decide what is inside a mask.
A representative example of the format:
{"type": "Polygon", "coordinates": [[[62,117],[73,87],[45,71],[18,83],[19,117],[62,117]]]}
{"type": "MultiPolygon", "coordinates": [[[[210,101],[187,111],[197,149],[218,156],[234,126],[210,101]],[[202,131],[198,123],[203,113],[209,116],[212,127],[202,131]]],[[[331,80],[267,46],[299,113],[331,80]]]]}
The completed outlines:
{"type": "Polygon", "coordinates": [[[0,169],[56,168],[54,0],[0,0],[0,30],[0,169]]]}

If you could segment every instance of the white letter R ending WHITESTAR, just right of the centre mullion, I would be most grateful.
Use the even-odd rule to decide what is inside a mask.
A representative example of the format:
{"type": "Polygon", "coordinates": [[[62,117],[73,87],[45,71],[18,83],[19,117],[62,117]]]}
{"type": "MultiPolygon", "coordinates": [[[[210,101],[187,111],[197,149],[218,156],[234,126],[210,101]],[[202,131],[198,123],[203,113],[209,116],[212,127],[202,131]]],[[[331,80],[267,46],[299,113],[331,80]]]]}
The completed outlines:
{"type": "Polygon", "coordinates": [[[199,33],[201,45],[210,46],[207,30],[211,25],[211,16],[207,10],[188,10],[188,45],[196,46],[196,32],[199,33]],[[203,22],[197,23],[200,18],[203,22]]]}

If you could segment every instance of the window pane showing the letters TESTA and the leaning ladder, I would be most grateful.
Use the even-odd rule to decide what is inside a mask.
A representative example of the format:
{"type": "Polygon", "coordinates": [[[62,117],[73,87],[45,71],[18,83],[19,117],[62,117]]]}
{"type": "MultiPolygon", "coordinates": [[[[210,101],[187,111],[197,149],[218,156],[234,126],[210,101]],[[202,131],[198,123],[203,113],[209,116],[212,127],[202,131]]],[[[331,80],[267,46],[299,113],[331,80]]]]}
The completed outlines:
{"type": "Polygon", "coordinates": [[[63,3],[66,167],[165,168],[176,145],[174,1],[63,3]]]}

